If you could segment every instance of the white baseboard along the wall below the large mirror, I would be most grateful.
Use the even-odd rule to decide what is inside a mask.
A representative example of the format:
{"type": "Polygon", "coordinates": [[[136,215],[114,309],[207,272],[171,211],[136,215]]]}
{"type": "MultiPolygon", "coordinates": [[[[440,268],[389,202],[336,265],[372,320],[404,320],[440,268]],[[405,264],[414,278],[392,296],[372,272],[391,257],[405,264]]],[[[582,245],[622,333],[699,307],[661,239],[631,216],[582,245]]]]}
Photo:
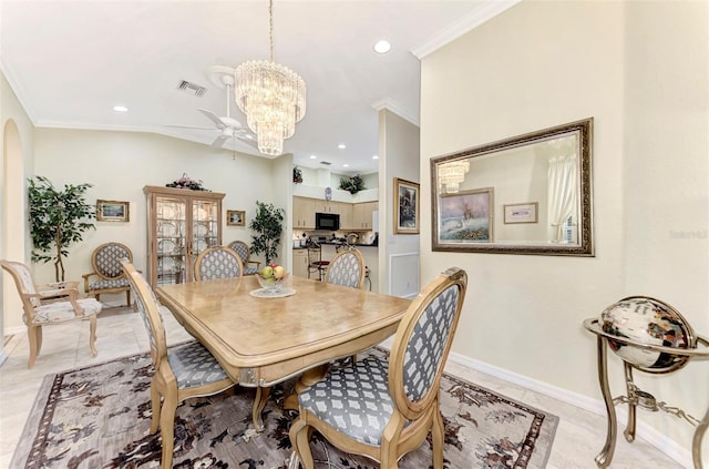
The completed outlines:
{"type": "MultiPolygon", "coordinates": [[[[588,410],[590,412],[606,416],[606,406],[600,399],[593,399],[578,392],[573,392],[567,389],[563,389],[556,386],[552,386],[548,383],[532,379],[524,375],[499,368],[496,366],[486,364],[484,361],[475,360],[464,355],[451,353],[449,359],[455,364],[465,366],[480,373],[493,376],[495,378],[504,379],[505,381],[513,383],[517,386],[522,386],[530,390],[543,394],[572,406],[588,410]]],[[[625,408],[616,409],[618,421],[627,419],[627,411],[625,408]]],[[[621,435],[623,431],[619,431],[621,435]]],[[[648,443],[653,445],[659,451],[667,455],[668,458],[677,461],[686,468],[693,467],[691,451],[678,445],[675,440],[668,438],[665,434],[659,432],[651,426],[640,421],[637,421],[636,437],[643,438],[648,443]]]]}

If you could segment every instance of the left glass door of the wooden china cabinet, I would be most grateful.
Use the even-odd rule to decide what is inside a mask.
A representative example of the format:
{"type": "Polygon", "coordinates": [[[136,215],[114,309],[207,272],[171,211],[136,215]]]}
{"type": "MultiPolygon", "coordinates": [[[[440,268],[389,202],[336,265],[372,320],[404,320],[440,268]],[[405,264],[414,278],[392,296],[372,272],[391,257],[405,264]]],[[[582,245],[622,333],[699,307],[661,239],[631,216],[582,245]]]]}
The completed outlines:
{"type": "Polygon", "coordinates": [[[185,282],[187,266],[187,203],[157,197],[157,285],[185,282]]]}

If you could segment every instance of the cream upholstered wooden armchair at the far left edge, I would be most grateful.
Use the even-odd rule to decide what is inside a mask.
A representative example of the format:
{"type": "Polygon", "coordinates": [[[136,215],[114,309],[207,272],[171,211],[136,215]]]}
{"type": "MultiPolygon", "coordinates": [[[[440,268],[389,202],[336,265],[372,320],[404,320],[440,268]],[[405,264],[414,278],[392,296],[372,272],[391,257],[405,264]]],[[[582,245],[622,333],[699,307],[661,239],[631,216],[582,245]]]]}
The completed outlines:
{"type": "Polygon", "coordinates": [[[96,315],[101,313],[101,303],[94,298],[81,298],[75,287],[63,282],[47,285],[44,288],[35,286],[29,267],[22,263],[0,261],[0,265],[12,275],[22,299],[22,320],[27,325],[27,336],[30,340],[28,368],[34,366],[42,348],[42,326],[89,319],[89,347],[91,355],[97,355],[96,315]]]}

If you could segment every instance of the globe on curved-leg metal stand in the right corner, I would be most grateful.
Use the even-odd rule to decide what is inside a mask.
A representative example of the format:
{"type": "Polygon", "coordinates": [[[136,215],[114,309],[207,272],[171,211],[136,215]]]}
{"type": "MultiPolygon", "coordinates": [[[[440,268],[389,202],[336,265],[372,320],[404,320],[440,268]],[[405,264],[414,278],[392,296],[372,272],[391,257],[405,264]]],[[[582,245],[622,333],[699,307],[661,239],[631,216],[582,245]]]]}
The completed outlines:
{"type": "Polygon", "coordinates": [[[597,336],[598,380],[606,405],[608,429],[606,442],[596,456],[596,466],[610,465],[616,446],[617,418],[615,406],[628,405],[625,439],[635,440],[636,409],[666,411],[695,426],[691,453],[695,469],[702,469],[701,441],[709,427],[709,408],[702,419],[686,414],[679,407],[667,406],[633,381],[633,369],[650,374],[670,374],[692,359],[709,359],[709,340],[696,336],[686,319],[671,306],[650,297],[633,296],[609,306],[602,318],[584,320],[584,327],[597,336]],[[701,346],[701,347],[700,347],[701,346]],[[608,348],[621,360],[626,395],[613,398],[608,384],[608,348]]]}

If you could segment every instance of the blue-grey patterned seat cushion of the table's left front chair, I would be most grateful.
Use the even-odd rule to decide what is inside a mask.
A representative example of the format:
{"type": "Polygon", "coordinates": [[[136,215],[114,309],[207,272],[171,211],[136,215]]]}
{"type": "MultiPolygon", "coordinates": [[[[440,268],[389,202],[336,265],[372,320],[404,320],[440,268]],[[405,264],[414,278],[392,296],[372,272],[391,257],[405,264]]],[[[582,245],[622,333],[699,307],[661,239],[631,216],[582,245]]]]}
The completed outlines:
{"type": "Polygon", "coordinates": [[[186,389],[228,378],[212,353],[198,341],[167,349],[167,361],[177,378],[177,388],[186,389]]]}

